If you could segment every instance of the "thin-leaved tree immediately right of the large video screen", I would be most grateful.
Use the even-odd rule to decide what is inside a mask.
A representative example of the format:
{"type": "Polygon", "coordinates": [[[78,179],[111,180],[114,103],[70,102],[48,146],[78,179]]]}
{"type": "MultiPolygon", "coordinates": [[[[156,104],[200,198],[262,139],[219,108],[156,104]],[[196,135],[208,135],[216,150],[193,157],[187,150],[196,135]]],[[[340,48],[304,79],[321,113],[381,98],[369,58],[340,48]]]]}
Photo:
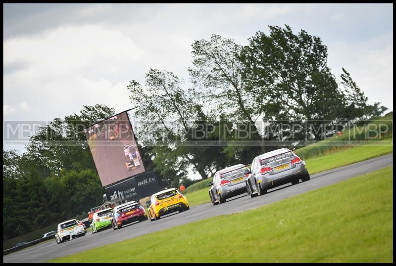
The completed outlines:
{"type": "Polygon", "coordinates": [[[210,173],[208,160],[216,153],[195,147],[191,136],[203,113],[191,90],[182,89],[179,78],[168,71],[150,69],[145,87],[130,82],[130,99],[137,106],[135,115],[144,121],[136,134],[145,145],[154,146],[156,171],[180,179],[193,166],[202,178],[210,173]],[[202,156],[202,152],[205,152],[202,156]]]}

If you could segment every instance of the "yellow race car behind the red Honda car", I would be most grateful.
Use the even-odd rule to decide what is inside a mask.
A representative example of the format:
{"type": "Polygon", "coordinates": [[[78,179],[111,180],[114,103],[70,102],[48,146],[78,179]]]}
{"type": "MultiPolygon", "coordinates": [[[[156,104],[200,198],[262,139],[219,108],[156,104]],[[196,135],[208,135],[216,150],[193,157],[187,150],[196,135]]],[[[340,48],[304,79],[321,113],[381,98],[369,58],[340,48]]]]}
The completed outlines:
{"type": "Polygon", "coordinates": [[[176,188],[159,191],[151,196],[148,207],[150,221],[158,220],[161,216],[190,210],[187,198],[176,188]]]}

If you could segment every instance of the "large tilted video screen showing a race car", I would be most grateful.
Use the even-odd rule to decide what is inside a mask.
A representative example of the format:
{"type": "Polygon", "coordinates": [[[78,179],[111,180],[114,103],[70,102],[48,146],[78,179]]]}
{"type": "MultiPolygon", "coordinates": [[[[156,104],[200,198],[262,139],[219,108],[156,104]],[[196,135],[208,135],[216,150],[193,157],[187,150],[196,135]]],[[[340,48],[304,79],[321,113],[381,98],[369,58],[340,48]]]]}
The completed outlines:
{"type": "Polygon", "coordinates": [[[127,112],[84,129],[102,186],[145,172],[127,112]]]}

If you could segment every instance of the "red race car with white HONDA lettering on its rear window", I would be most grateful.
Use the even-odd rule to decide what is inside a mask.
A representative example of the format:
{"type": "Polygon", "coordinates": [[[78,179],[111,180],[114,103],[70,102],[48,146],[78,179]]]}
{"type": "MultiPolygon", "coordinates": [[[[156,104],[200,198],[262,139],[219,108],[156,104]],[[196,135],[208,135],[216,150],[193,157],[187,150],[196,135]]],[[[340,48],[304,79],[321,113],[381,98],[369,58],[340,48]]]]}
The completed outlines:
{"type": "Polygon", "coordinates": [[[136,201],[130,201],[114,208],[111,225],[113,229],[120,229],[125,224],[145,220],[147,220],[145,208],[136,201]]]}

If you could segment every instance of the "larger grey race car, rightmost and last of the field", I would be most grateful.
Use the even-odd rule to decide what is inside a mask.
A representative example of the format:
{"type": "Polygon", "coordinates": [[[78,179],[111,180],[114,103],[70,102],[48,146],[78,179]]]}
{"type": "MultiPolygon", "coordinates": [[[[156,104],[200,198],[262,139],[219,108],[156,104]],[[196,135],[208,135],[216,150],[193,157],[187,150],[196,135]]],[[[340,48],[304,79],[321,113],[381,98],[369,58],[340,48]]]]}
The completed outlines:
{"type": "Polygon", "coordinates": [[[310,179],[305,162],[293,151],[282,148],[261,154],[253,159],[247,175],[246,186],[250,197],[267,193],[267,189],[289,182],[297,184],[299,179],[310,179]]]}

